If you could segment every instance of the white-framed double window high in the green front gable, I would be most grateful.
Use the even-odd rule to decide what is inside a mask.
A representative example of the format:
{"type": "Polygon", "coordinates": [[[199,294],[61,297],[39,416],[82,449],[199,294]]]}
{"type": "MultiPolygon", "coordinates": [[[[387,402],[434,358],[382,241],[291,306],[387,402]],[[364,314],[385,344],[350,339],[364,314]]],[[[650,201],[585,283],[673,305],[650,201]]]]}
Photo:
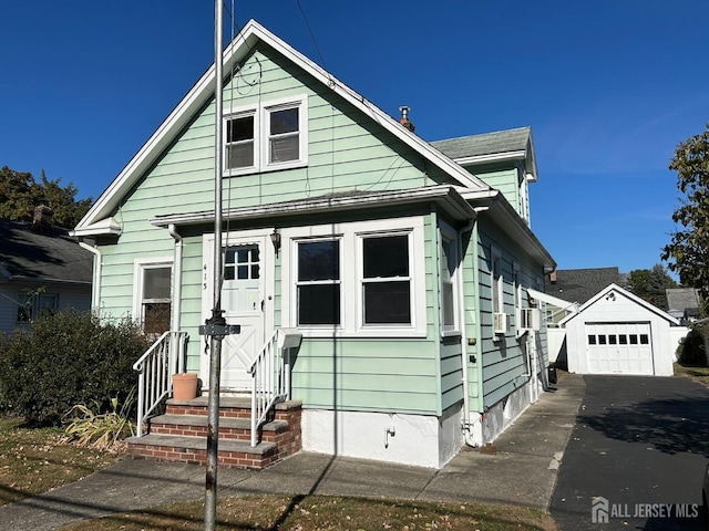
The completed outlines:
{"type": "Polygon", "coordinates": [[[307,98],[242,107],[225,117],[225,171],[242,175],[307,163],[307,98]]]}

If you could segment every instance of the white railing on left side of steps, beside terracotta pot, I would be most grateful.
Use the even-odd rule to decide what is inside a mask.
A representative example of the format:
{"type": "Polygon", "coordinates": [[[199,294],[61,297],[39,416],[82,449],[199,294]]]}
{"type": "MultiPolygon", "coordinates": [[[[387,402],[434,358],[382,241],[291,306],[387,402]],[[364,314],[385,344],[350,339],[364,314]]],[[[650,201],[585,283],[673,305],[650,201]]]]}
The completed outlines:
{"type": "Polygon", "coordinates": [[[133,369],[137,375],[137,436],[143,436],[143,423],[172,388],[173,374],[185,372],[186,332],[165,332],[143,354],[133,369]]]}

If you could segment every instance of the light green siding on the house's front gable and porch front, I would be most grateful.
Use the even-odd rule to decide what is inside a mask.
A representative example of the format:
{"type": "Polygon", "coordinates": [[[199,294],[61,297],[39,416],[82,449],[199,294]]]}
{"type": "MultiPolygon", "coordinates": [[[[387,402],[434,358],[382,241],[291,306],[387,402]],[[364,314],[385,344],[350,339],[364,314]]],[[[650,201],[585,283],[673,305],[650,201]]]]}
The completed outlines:
{"type": "MultiPolygon", "coordinates": [[[[258,206],[352,191],[397,190],[445,183],[449,177],[403,145],[361,111],[259,44],[242,73],[227,80],[224,112],[269,101],[307,96],[308,163],[305,167],[225,177],[224,207],[258,206]],[[245,85],[247,74],[254,73],[245,85]]],[[[113,212],[122,233],[101,242],[101,306],[105,315],[130,315],[136,258],[173,258],[175,240],[151,220],[214,209],[214,102],[207,103],[174,138],[113,212]]],[[[318,218],[233,220],[229,230],[276,225],[317,225],[336,218],[398,216],[424,218],[425,337],[392,340],[305,339],[292,366],[292,394],[305,407],[441,415],[462,399],[461,345],[441,344],[439,327],[438,229],[431,210],[329,214],[318,218]]],[[[386,223],[382,225],[386,228],[386,223]]],[[[203,227],[178,227],[183,236],[181,330],[189,334],[187,368],[201,366],[204,350],[203,227]]],[[[282,325],[282,290],[290,272],[275,269],[276,326],[282,325]]],[[[176,264],[174,264],[175,268],[176,264]]],[[[175,301],[174,301],[175,302],[175,301]]],[[[286,323],[287,324],[287,323],[286,323]]],[[[268,335],[268,334],[267,334],[268,335]]]]}

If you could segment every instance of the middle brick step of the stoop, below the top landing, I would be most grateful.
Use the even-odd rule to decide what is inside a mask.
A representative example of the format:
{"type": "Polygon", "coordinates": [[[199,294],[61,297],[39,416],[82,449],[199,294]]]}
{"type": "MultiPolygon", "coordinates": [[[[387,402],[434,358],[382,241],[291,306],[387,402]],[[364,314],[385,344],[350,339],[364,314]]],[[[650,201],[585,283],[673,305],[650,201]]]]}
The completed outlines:
{"type": "MultiPolygon", "coordinates": [[[[157,435],[206,437],[208,424],[209,420],[205,415],[165,414],[150,420],[150,431],[157,435]]],[[[284,431],[288,431],[288,423],[286,420],[273,420],[259,427],[259,438],[265,442],[276,442],[277,435],[284,431]]],[[[219,418],[219,440],[222,439],[250,441],[250,418],[219,418]]]]}

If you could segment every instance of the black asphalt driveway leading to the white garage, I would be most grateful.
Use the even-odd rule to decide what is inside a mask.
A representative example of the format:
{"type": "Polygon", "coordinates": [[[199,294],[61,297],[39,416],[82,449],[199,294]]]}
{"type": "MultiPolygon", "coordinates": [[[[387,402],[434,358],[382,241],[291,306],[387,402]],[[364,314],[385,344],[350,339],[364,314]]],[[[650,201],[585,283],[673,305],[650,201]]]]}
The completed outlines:
{"type": "Polygon", "coordinates": [[[586,395],[552,498],[559,528],[703,529],[709,389],[679,377],[584,381],[586,395]]]}

